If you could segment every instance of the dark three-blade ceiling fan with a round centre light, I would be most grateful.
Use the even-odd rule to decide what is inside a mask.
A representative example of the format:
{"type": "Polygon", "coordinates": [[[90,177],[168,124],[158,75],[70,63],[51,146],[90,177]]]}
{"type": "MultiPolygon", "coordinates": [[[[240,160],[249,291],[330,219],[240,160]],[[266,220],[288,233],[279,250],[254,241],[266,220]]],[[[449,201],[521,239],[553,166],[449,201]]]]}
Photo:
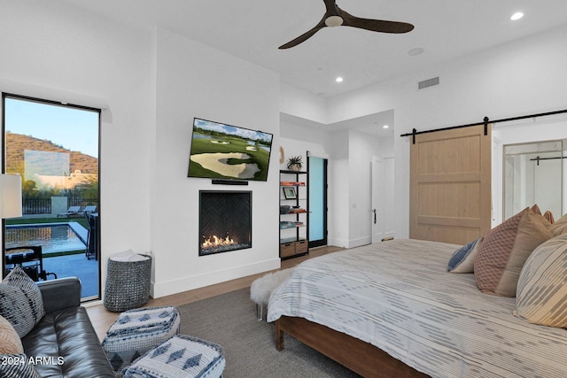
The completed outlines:
{"type": "Polygon", "coordinates": [[[323,27],[358,27],[379,33],[408,33],[414,29],[412,24],[398,21],[384,21],[382,19],[361,19],[343,11],[337,5],[336,0],[323,0],[327,11],[322,16],[321,21],[307,33],[299,35],[296,39],[287,42],[279,47],[279,49],[289,49],[297,46],[301,42],[306,42],[315,33],[323,27]]]}

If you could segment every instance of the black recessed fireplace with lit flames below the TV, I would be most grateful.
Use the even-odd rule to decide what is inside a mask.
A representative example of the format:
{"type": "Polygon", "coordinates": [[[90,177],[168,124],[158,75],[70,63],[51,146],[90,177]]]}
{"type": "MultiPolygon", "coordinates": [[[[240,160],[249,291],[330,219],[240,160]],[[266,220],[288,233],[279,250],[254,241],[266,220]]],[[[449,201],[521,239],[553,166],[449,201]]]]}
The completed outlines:
{"type": "Polygon", "coordinates": [[[199,191],[198,255],[252,248],[252,191],[199,191]]]}

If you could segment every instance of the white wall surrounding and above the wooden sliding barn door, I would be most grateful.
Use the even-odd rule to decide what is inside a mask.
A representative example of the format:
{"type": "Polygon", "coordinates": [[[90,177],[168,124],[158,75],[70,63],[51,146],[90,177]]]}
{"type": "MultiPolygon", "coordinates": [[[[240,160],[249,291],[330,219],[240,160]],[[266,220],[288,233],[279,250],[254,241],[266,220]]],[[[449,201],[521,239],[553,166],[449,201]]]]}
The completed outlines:
{"type": "Polygon", "coordinates": [[[408,236],[410,143],[398,135],[564,109],[566,44],[561,27],[328,99],[329,122],[394,110],[397,237],[408,236]],[[435,76],[439,86],[417,90],[435,76]]]}

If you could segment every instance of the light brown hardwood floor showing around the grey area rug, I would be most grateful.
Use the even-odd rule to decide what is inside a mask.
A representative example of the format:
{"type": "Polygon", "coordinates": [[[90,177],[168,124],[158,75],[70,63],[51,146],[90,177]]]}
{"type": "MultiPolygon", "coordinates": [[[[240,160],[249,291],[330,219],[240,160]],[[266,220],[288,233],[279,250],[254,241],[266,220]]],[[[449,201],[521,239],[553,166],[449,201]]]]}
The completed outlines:
{"type": "MultiPolygon", "coordinates": [[[[343,248],[339,247],[319,247],[309,250],[307,256],[301,256],[299,258],[290,258],[282,261],[282,267],[280,269],[286,269],[289,267],[297,266],[300,262],[305,261],[309,258],[315,258],[317,256],[322,256],[324,254],[341,251],[343,248]]],[[[267,274],[269,272],[263,272],[260,274],[253,274],[247,277],[238,278],[237,280],[232,280],[228,282],[221,282],[205,288],[193,289],[189,291],[184,291],[183,293],[173,294],[167,297],[150,298],[146,307],[148,306],[158,306],[158,305],[186,305],[191,302],[196,302],[201,299],[206,299],[208,297],[215,297],[229,291],[234,291],[238,289],[244,289],[249,287],[256,278],[267,274]]],[[[106,331],[113,322],[118,318],[118,312],[110,312],[105,309],[104,305],[93,305],[87,307],[87,312],[89,313],[90,320],[97,331],[97,336],[102,340],[106,331]]]]}

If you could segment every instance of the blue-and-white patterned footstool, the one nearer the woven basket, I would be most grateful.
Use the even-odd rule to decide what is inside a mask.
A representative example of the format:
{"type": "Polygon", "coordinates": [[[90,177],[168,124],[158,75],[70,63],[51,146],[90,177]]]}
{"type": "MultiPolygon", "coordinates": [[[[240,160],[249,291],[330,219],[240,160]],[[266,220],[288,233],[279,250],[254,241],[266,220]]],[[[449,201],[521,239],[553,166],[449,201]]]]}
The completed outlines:
{"type": "Polygon", "coordinates": [[[106,358],[117,377],[134,360],[179,333],[175,306],[147,307],[120,313],[103,340],[106,358]]]}

